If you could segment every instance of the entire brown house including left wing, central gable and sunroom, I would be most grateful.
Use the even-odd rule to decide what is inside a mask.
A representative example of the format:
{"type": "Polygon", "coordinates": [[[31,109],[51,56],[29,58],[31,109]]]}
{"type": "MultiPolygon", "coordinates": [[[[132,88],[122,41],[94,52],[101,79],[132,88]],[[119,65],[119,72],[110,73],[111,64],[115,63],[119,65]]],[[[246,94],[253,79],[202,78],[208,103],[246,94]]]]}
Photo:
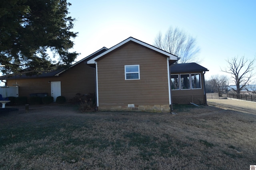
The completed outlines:
{"type": "Polygon", "coordinates": [[[66,70],[38,76],[1,76],[18,84],[19,96],[47,93],[66,99],[96,93],[98,110],[170,112],[174,104],[206,104],[204,73],[196,63],[175,64],[178,57],[129,37],[102,49],[66,70]]]}

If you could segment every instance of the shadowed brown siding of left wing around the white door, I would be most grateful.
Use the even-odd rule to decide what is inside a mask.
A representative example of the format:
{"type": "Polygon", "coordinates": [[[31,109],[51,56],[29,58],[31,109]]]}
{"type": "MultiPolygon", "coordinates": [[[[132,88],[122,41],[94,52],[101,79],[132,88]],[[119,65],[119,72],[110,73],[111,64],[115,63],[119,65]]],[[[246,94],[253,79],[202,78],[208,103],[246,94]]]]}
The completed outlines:
{"type": "Polygon", "coordinates": [[[59,76],[47,78],[29,78],[7,80],[7,86],[19,84],[19,96],[29,97],[31,93],[48,93],[51,96],[51,82],[61,82],[61,95],[66,99],[73,98],[77,93],[95,92],[95,69],[86,63],[79,63],[59,76]]]}

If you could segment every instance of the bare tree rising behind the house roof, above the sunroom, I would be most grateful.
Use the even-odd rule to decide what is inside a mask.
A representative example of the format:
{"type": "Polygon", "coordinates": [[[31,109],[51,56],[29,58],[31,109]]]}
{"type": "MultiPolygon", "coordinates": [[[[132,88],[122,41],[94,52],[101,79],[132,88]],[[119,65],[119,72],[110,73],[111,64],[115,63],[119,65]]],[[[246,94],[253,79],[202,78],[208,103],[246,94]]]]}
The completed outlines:
{"type": "Polygon", "coordinates": [[[164,37],[160,31],[153,45],[180,57],[179,63],[202,62],[197,58],[200,49],[196,46],[196,39],[178,27],[175,29],[170,27],[164,37]]]}

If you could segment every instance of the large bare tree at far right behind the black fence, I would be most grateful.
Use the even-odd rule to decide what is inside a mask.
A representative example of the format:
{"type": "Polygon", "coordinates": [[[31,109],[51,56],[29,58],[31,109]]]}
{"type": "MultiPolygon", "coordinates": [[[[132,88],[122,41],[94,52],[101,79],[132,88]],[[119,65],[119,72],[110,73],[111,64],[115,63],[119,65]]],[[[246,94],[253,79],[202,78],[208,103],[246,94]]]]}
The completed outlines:
{"type": "Polygon", "coordinates": [[[230,73],[232,77],[232,82],[236,85],[236,88],[229,86],[237,94],[240,94],[241,90],[246,90],[246,85],[248,85],[255,73],[254,62],[256,57],[252,60],[245,59],[244,56],[241,58],[234,57],[232,59],[226,60],[228,62],[228,67],[223,72],[230,73]]]}

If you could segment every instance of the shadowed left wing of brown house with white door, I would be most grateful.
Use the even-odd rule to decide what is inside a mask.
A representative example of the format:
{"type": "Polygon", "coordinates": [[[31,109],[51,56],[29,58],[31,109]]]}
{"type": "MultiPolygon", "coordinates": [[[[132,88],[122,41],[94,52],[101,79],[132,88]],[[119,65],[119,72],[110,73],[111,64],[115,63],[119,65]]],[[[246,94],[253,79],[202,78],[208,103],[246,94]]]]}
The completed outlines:
{"type": "Polygon", "coordinates": [[[103,47],[65,70],[44,72],[37,76],[6,75],[1,76],[0,79],[6,80],[6,86],[18,84],[19,96],[30,97],[31,94],[48,94],[48,96],[53,96],[55,101],[58,96],[70,99],[77,93],[94,93],[95,69],[88,66],[86,62],[106,50],[107,48],[103,47]]]}

